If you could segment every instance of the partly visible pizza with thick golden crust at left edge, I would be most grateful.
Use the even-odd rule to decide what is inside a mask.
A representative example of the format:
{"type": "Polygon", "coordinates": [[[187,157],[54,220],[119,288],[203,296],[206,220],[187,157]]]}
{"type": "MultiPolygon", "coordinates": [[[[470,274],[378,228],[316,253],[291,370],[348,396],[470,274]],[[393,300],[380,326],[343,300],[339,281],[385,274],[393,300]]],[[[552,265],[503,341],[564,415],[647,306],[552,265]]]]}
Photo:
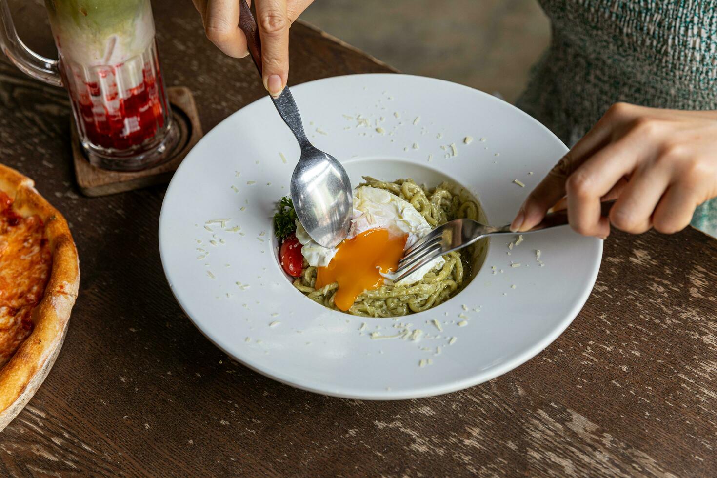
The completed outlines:
{"type": "Polygon", "coordinates": [[[67,221],[30,178],[0,164],[0,431],[57,358],[79,284],[67,221]]]}

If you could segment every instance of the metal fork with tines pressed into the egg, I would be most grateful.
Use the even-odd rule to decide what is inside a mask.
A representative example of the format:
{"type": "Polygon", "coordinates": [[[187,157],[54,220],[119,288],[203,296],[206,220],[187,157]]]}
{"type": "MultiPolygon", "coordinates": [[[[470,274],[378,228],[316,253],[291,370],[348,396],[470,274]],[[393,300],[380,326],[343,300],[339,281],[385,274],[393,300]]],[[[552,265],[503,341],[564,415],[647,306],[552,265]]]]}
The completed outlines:
{"type": "MultiPolygon", "coordinates": [[[[602,215],[607,216],[614,201],[602,203],[602,215]]],[[[394,282],[399,282],[407,275],[417,271],[437,257],[449,252],[457,251],[463,247],[483,239],[486,236],[500,236],[504,234],[529,234],[531,232],[550,229],[551,227],[564,226],[568,224],[568,211],[555,211],[546,214],[540,224],[529,231],[513,232],[511,225],[501,227],[486,226],[473,219],[454,219],[438,226],[428,234],[419,239],[415,244],[406,249],[403,259],[399,262],[399,268],[395,274],[399,276],[394,282]]]]}

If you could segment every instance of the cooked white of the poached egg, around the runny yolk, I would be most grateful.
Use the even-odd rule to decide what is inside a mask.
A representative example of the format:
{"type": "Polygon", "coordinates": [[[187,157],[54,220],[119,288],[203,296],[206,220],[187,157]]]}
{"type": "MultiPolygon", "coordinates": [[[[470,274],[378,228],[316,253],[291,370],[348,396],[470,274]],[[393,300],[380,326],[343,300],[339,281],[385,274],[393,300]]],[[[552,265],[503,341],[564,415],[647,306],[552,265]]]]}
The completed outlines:
{"type": "MultiPolygon", "coordinates": [[[[396,234],[408,234],[406,248],[411,247],[432,228],[426,219],[408,201],[390,193],[385,189],[361,186],[353,191],[353,219],[348,239],[358,236],[369,229],[389,229],[396,234]]],[[[337,247],[331,249],[316,244],[297,221],[296,238],[303,247],[301,253],[311,266],[326,267],[338,252],[337,247]]],[[[410,285],[418,282],[435,267],[442,267],[442,257],[424,265],[416,272],[404,277],[397,285],[410,285]]],[[[396,274],[383,274],[386,279],[393,279],[396,274]]]]}

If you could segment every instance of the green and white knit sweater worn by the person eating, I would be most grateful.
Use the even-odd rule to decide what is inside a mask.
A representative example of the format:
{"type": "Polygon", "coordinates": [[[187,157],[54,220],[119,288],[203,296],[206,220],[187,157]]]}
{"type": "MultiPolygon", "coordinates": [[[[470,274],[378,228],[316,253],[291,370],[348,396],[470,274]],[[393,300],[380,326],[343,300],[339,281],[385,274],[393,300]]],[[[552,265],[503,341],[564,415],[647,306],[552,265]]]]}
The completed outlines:
{"type": "MultiPolygon", "coordinates": [[[[618,101],[717,110],[717,0],[538,1],[552,40],[518,106],[567,145],[618,101]]],[[[717,201],[692,224],[717,236],[717,201]]]]}

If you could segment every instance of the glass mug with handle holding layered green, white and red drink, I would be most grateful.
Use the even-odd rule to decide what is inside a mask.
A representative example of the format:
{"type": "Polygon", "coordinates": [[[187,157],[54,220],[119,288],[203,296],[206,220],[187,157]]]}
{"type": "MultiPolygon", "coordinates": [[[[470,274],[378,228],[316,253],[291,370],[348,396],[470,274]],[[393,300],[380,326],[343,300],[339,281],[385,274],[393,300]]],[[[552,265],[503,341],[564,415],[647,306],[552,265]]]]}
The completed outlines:
{"type": "Polygon", "coordinates": [[[179,141],[162,81],[149,0],[45,0],[59,59],[17,37],[0,0],[0,47],[27,75],[70,94],[90,163],[138,171],[171,156],[179,141]]]}

